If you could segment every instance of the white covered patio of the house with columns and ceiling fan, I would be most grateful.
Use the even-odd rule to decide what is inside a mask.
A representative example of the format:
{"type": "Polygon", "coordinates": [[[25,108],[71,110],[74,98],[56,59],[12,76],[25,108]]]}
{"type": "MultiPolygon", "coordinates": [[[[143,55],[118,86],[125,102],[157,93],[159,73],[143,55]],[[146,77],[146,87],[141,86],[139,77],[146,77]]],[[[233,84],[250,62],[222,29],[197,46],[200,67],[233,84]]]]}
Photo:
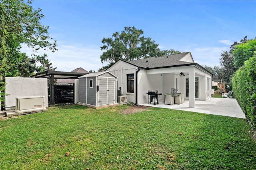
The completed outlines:
{"type": "MultiPolygon", "coordinates": [[[[143,76],[143,73],[141,74],[143,76]]],[[[162,94],[159,96],[161,100],[164,94],[171,94],[173,88],[175,93],[184,94],[188,107],[191,108],[195,107],[196,100],[206,101],[210,98],[208,90],[211,89],[212,75],[198,64],[146,70],[144,76],[138,85],[138,91],[141,92],[144,101],[147,100],[147,96],[142,92],[150,89],[158,90],[158,93],[162,94]]],[[[139,103],[144,103],[141,100],[140,98],[139,103]]]]}

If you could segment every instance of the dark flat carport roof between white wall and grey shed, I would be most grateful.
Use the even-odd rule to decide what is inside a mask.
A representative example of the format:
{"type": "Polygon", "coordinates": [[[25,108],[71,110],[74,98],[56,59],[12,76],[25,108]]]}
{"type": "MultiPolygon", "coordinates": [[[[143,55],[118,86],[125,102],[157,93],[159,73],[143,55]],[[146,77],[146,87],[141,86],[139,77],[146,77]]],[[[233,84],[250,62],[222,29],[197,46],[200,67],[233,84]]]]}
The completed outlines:
{"type": "Polygon", "coordinates": [[[46,71],[46,72],[41,72],[35,75],[32,75],[30,77],[32,78],[50,78],[52,75],[54,78],[78,78],[80,76],[83,76],[88,73],[84,72],[64,72],[64,71],[46,71]]]}

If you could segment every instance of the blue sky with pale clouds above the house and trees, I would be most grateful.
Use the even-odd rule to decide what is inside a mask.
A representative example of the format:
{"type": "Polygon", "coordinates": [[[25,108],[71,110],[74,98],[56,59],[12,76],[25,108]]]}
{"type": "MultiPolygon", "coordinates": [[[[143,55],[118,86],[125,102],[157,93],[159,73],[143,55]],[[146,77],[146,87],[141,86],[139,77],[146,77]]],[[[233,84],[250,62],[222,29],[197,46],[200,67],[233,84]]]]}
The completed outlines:
{"type": "Polygon", "coordinates": [[[100,61],[101,40],[126,26],[142,29],[162,50],[190,51],[208,66],[219,66],[220,53],[234,41],[256,37],[256,1],[34,0],[32,6],[42,9],[42,23],[58,44],[57,52],[38,54],[48,54],[57,71],[98,71],[107,64],[100,61]]]}

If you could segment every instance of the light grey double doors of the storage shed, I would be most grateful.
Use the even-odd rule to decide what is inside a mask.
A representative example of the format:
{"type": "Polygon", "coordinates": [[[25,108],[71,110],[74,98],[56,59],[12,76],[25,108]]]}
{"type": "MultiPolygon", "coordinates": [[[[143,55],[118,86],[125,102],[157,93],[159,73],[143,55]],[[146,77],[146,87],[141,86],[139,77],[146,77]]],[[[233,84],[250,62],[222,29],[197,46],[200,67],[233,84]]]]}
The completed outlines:
{"type": "Polygon", "coordinates": [[[99,78],[99,106],[115,104],[115,78],[99,78]]]}

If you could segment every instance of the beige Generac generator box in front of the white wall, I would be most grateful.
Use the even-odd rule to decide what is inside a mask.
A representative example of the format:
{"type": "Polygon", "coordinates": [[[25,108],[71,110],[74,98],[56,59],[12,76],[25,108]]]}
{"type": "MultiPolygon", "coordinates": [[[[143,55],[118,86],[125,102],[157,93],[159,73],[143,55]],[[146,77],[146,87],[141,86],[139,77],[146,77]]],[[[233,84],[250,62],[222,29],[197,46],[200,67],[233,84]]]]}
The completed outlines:
{"type": "Polygon", "coordinates": [[[30,112],[45,110],[44,96],[22,96],[16,97],[15,112],[30,112]]]}

